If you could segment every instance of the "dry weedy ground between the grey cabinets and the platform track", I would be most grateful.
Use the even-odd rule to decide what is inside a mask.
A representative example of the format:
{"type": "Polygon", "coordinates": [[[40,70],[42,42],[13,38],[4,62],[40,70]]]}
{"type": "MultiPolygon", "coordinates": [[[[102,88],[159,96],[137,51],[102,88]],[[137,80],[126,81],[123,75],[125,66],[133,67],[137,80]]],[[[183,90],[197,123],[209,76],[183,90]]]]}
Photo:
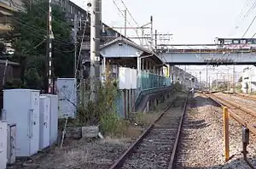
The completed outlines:
{"type": "Polygon", "coordinates": [[[8,169],[107,169],[143,132],[143,128],[148,127],[164,110],[168,102],[157,106],[158,110],[143,116],[145,126],[130,127],[127,131],[127,138],[104,138],[102,140],[89,141],[65,140],[64,146],[52,148],[47,153],[33,156],[29,161],[18,161],[8,169]]]}

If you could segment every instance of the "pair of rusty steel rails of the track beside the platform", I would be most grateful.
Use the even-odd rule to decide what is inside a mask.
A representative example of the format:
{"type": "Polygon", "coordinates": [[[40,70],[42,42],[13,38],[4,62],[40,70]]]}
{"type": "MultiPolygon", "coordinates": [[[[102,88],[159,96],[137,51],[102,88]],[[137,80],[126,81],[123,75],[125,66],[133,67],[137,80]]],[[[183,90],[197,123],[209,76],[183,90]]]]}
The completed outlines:
{"type": "MultiPolygon", "coordinates": [[[[177,99],[177,98],[176,98],[176,99],[177,99]]],[[[125,151],[125,153],[124,153],[123,155],[121,155],[121,156],[119,157],[119,159],[118,159],[117,161],[115,161],[112,166],[110,166],[109,169],[118,169],[118,168],[120,168],[120,167],[123,166],[123,164],[124,164],[126,158],[128,157],[128,155],[131,155],[132,150],[135,149],[135,148],[137,147],[137,145],[141,143],[141,141],[143,140],[143,138],[145,138],[145,137],[148,135],[148,133],[149,133],[149,132],[151,131],[151,129],[154,127],[155,123],[156,123],[157,121],[159,121],[160,118],[161,118],[163,115],[165,115],[166,111],[171,108],[171,106],[172,106],[172,104],[173,104],[174,101],[175,101],[175,99],[172,100],[172,102],[166,107],[166,109],[165,109],[165,110],[158,116],[158,118],[154,121],[154,123],[153,123],[152,125],[150,125],[150,126],[143,132],[143,134],[142,134],[139,138],[137,138],[137,140],[136,140],[133,144],[131,144],[131,146],[125,151]]],[[[183,108],[183,111],[184,111],[184,112],[185,112],[185,110],[186,110],[187,101],[188,101],[188,95],[187,95],[187,97],[186,97],[186,101],[185,101],[184,108],[183,108]]],[[[184,112],[183,112],[183,115],[184,115],[184,112]]],[[[180,122],[182,122],[182,121],[183,121],[183,116],[182,116],[180,122]]],[[[179,136],[179,132],[181,131],[181,126],[182,126],[182,125],[179,125],[179,127],[178,127],[178,136],[179,136]]],[[[178,139],[178,138],[176,138],[176,142],[177,142],[177,139],[178,139]]],[[[176,143],[176,142],[175,142],[175,146],[174,146],[175,149],[177,148],[177,143],[176,143]]],[[[173,148],[173,149],[174,149],[174,148],[173,148]]],[[[173,150],[172,150],[172,154],[173,154],[173,150]]],[[[175,154],[174,154],[174,155],[175,155],[175,154]]],[[[173,160],[174,160],[174,157],[172,158],[172,161],[173,161],[173,160]]],[[[170,164],[172,164],[172,163],[170,163],[170,164]]],[[[172,167],[171,167],[171,169],[172,169],[172,167]]]]}

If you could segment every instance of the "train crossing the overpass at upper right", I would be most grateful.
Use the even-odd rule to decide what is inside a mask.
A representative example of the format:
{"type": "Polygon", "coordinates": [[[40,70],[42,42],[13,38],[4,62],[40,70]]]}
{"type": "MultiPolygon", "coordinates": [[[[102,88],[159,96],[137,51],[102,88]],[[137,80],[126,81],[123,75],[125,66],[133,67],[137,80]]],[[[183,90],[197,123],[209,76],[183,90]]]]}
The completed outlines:
{"type": "Polygon", "coordinates": [[[218,48],[228,49],[255,49],[256,38],[218,38],[216,37],[215,43],[218,48]]]}

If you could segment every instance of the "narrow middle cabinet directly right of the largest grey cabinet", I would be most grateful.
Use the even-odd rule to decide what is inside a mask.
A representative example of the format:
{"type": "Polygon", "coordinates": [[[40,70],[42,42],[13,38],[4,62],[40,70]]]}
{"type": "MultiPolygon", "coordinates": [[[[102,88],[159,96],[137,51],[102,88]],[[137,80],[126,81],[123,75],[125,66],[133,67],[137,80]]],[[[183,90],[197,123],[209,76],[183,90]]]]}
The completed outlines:
{"type": "Polygon", "coordinates": [[[50,99],[46,96],[40,96],[40,135],[39,149],[49,146],[49,124],[50,124],[50,99]]]}

